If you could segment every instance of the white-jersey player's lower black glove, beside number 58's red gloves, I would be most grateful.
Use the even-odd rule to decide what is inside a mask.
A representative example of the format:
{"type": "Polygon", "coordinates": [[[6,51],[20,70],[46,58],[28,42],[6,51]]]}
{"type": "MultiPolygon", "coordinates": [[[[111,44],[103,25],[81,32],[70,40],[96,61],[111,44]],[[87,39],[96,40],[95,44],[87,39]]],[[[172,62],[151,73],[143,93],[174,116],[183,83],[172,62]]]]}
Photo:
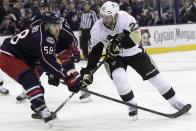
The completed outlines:
{"type": "Polygon", "coordinates": [[[80,71],[81,77],[80,77],[80,86],[85,88],[93,83],[93,76],[90,76],[91,70],[88,70],[87,68],[82,68],[80,71]]]}

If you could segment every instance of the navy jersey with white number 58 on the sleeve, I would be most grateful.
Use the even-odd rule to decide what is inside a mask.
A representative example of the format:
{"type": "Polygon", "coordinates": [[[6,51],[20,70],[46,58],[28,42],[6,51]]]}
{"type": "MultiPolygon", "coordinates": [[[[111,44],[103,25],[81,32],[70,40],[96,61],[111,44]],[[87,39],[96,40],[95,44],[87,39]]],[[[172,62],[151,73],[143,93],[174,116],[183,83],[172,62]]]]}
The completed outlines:
{"type": "Polygon", "coordinates": [[[57,39],[37,25],[5,39],[1,51],[22,59],[31,68],[39,61],[45,71],[62,78],[66,75],[54,54],[56,43],[57,39]]]}

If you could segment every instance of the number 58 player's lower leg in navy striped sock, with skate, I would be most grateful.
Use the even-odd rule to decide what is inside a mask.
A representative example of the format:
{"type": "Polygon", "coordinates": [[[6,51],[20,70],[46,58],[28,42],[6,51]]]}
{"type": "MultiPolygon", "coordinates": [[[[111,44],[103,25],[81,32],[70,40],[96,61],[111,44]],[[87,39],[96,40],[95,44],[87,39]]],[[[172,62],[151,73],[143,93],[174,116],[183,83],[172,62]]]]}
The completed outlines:
{"type": "Polygon", "coordinates": [[[18,82],[23,86],[28,96],[31,109],[42,116],[45,122],[53,119],[53,114],[48,110],[44,99],[44,88],[33,70],[22,74],[18,82]]]}

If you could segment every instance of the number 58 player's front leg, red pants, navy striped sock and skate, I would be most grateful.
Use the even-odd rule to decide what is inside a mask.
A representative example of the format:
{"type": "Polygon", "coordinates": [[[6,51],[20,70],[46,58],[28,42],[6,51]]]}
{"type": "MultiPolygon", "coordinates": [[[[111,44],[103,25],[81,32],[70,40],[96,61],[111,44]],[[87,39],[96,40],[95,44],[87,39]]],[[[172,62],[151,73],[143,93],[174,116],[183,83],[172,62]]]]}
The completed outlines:
{"type": "Polygon", "coordinates": [[[34,71],[22,60],[5,54],[0,54],[0,67],[2,71],[23,86],[34,111],[39,113],[45,122],[51,120],[52,113],[46,107],[44,91],[34,71]]]}

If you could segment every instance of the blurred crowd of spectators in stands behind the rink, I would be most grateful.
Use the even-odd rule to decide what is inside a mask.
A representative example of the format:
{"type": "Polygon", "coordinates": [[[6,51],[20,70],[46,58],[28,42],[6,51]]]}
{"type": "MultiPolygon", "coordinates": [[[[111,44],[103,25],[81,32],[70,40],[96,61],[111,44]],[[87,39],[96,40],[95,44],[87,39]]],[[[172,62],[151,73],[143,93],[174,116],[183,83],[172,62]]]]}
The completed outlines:
{"type": "MultiPolygon", "coordinates": [[[[107,0],[53,0],[52,8],[67,19],[73,31],[80,30],[81,15],[88,2],[99,18],[99,10],[107,0]]],[[[196,0],[113,0],[121,10],[134,16],[140,26],[172,25],[196,22],[196,0]]],[[[39,14],[39,0],[0,0],[0,35],[23,30],[39,14]]]]}

